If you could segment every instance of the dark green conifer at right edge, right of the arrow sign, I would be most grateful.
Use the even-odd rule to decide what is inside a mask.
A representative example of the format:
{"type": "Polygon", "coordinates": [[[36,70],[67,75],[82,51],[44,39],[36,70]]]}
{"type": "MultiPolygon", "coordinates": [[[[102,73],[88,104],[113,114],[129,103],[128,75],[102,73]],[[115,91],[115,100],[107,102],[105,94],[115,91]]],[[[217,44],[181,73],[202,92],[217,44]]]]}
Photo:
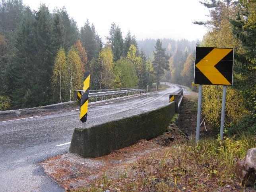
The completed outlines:
{"type": "Polygon", "coordinates": [[[243,52],[235,52],[234,70],[239,76],[235,77],[235,86],[242,90],[248,110],[256,112],[256,3],[245,0],[240,2],[241,9],[234,19],[229,19],[234,37],[240,40],[243,52]]]}

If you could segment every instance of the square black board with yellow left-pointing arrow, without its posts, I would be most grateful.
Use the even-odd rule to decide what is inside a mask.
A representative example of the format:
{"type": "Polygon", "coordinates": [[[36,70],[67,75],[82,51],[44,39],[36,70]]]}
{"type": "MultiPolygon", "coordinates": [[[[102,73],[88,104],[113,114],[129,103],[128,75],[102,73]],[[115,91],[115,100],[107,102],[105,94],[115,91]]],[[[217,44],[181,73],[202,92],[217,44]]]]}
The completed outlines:
{"type": "Polygon", "coordinates": [[[233,48],[196,47],[194,84],[232,85],[233,48]]]}

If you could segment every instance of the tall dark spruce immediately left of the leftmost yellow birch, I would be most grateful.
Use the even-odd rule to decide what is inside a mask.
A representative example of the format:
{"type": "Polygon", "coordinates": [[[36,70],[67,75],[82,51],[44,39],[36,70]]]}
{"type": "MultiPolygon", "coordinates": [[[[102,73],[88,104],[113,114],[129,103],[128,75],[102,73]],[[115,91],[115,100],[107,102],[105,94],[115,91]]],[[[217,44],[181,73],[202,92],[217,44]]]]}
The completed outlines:
{"type": "Polygon", "coordinates": [[[34,99],[38,105],[47,105],[50,103],[50,77],[54,66],[54,47],[52,46],[52,18],[45,4],[42,4],[35,12],[35,45],[37,53],[35,54],[37,64],[37,82],[35,89],[38,92],[34,99]]]}

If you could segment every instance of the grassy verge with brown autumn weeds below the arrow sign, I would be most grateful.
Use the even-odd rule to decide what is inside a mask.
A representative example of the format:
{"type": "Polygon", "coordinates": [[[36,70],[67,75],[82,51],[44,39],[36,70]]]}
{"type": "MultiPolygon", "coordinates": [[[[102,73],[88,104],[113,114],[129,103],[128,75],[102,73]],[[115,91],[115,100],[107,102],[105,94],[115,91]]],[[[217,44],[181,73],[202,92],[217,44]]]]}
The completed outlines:
{"type": "Polygon", "coordinates": [[[255,146],[255,137],[245,136],[177,144],[126,165],[117,179],[104,173],[94,186],[76,191],[241,191],[236,161],[255,146]]]}

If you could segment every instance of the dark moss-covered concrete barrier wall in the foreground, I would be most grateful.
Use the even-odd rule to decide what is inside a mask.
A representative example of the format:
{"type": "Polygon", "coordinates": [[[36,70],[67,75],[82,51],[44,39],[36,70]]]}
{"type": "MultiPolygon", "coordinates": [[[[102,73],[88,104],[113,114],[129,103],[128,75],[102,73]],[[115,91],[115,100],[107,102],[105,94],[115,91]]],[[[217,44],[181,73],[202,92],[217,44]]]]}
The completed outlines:
{"type": "Polygon", "coordinates": [[[150,140],[162,134],[175,114],[175,102],[154,111],[107,122],[90,128],[76,128],[71,153],[82,157],[99,157],[116,149],[150,140]]]}

